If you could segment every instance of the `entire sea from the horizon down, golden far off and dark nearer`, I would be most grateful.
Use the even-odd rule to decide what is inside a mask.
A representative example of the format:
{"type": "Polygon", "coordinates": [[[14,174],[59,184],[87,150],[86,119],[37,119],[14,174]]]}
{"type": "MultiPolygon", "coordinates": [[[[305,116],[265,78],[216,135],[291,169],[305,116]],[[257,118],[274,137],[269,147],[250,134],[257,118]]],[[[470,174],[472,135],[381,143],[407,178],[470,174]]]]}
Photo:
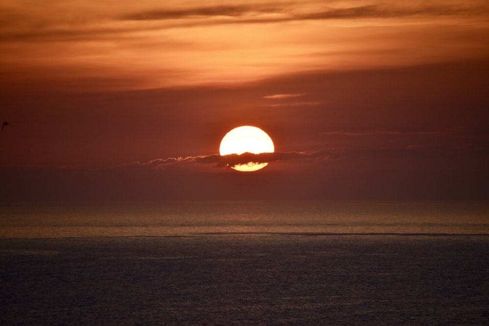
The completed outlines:
{"type": "Polygon", "coordinates": [[[0,325],[489,325],[489,202],[1,203],[0,325]]]}

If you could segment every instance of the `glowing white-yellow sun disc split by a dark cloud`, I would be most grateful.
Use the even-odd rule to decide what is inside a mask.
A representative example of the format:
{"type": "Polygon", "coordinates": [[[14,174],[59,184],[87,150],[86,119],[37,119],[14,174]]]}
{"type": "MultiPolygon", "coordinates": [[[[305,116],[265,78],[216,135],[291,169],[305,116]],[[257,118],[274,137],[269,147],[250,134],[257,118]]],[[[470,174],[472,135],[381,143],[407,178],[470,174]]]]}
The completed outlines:
{"type": "MultiPolygon", "coordinates": [[[[252,126],[241,126],[235,128],[224,136],[221,141],[219,152],[221,155],[238,154],[245,152],[260,154],[273,153],[275,148],[270,136],[260,128],[252,126]]],[[[268,163],[248,162],[232,166],[234,170],[250,172],[266,167],[268,163]]]]}

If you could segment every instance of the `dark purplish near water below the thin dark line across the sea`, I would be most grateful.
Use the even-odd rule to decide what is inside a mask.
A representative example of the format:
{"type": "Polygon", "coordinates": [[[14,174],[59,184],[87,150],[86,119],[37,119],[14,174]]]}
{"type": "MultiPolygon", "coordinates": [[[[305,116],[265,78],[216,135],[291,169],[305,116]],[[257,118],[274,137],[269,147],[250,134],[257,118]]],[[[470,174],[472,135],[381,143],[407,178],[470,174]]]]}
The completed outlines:
{"type": "Polygon", "coordinates": [[[2,325],[487,325],[485,236],[0,239],[2,325]]]}

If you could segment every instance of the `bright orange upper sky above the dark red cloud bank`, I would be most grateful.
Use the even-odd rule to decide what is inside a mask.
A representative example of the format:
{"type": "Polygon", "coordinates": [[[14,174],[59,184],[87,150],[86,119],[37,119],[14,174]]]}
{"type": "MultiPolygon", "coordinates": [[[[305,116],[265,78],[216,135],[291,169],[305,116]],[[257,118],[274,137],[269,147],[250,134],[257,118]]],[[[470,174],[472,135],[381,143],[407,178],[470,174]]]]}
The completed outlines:
{"type": "Polygon", "coordinates": [[[3,87],[228,84],[489,54],[485,0],[7,0],[0,9],[3,87]]]}

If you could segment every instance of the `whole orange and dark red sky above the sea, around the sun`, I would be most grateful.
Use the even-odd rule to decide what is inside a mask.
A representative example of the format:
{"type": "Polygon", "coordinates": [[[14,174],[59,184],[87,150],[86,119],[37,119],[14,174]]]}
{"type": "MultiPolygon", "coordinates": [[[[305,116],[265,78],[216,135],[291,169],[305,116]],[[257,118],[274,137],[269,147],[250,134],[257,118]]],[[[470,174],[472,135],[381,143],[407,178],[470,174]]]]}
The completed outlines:
{"type": "Polygon", "coordinates": [[[487,0],[4,0],[0,201],[487,200],[488,35],[487,0]]]}

